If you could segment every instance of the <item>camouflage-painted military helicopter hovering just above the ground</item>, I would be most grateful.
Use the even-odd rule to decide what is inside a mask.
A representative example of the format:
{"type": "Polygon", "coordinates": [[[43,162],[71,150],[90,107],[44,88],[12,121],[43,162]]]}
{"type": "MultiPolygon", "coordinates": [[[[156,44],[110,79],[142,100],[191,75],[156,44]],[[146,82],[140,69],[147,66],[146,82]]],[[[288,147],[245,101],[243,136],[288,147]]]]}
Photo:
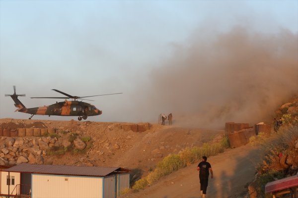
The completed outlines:
{"type": "MultiPolygon", "coordinates": [[[[29,113],[31,114],[31,117],[34,115],[58,115],[58,116],[78,116],[78,120],[81,121],[82,119],[86,120],[88,116],[94,116],[94,115],[100,115],[102,113],[101,110],[97,109],[94,105],[78,101],[78,99],[82,98],[88,98],[88,97],[95,97],[95,96],[106,96],[106,95],[115,95],[115,94],[122,94],[122,93],[115,93],[115,94],[103,94],[103,95],[95,95],[95,96],[84,96],[84,97],[78,97],[78,96],[72,96],[69,94],[66,94],[64,92],[61,92],[59,90],[54,91],[63,94],[67,97],[31,97],[31,99],[65,99],[65,101],[57,102],[55,104],[51,104],[48,106],[39,106],[39,107],[33,107],[33,108],[26,108],[24,104],[18,99],[19,96],[26,96],[25,94],[16,94],[15,93],[15,86],[13,86],[13,95],[5,94],[5,96],[10,96],[13,101],[15,102],[14,106],[18,109],[15,110],[22,113],[29,113]],[[72,101],[68,101],[67,99],[72,99],[72,101]]],[[[90,99],[85,99],[89,101],[94,101],[90,99]]]]}

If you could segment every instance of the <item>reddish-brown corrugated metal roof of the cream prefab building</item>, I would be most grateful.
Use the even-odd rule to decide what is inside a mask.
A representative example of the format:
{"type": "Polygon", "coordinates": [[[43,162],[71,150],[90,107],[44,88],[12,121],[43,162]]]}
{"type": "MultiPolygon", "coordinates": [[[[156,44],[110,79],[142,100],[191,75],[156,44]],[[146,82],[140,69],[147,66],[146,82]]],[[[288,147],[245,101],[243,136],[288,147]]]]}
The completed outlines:
{"type": "Polygon", "coordinates": [[[21,163],[11,168],[7,168],[4,171],[51,175],[103,177],[111,173],[127,173],[130,170],[121,167],[65,166],[21,163]]]}

